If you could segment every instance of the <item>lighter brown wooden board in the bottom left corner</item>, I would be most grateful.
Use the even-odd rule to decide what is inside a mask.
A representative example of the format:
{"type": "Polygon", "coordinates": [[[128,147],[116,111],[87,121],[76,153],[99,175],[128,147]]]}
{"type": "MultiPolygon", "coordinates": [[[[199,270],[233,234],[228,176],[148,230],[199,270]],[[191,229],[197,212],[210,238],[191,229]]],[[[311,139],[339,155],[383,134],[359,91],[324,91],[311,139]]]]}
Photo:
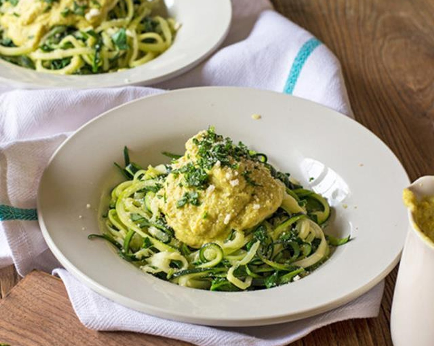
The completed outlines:
{"type": "Polygon", "coordinates": [[[189,343],[127,332],[86,329],[60,279],[31,272],[0,300],[0,343],[20,346],[187,346],[189,343]]]}

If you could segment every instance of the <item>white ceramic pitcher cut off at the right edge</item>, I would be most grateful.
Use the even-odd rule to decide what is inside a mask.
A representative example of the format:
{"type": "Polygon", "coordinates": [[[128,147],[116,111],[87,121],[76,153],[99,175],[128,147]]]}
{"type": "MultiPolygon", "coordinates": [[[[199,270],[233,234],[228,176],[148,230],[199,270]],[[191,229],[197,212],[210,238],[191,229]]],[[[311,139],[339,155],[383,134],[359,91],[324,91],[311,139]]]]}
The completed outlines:
{"type": "MultiPolygon", "coordinates": [[[[417,198],[434,196],[434,176],[425,176],[408,187],[417,198]]],[[[391,312],[395,346],[434,345],[434,242],[414,227],[405,241],[391,312]]],[[[387,246],[387,244],[385,244],[387,246]]]]}

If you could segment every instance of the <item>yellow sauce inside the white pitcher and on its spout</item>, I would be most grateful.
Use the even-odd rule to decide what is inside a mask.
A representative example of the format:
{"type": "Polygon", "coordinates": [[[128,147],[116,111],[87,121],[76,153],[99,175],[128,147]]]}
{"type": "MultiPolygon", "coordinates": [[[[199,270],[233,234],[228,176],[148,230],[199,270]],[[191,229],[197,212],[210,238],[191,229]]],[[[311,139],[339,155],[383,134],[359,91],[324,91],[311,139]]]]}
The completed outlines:
{"type": "Polygon", "coordinates": [[[434,242],[434,196],[418,200],[408,188],[404,189],[404,204],[413,214],[417,228],[434,242]]]}

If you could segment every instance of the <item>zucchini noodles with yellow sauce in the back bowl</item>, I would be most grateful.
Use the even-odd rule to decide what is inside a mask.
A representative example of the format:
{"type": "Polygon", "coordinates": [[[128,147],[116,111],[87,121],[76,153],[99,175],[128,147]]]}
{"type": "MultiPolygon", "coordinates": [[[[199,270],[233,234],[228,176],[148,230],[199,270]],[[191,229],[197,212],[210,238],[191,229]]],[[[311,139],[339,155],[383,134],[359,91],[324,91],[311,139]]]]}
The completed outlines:
{"type": "Polygon", "coordinates": [[[0,0],[0,57],[50,74],[137,67],[172,44],[178,29],[161,0],[0,0]]]}

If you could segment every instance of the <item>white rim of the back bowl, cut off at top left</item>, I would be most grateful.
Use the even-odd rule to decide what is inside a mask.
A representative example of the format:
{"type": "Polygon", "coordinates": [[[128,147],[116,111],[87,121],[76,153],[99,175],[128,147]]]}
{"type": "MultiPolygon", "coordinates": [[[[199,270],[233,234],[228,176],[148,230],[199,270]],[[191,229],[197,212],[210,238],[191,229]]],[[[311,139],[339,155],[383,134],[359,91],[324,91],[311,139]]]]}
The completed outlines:
{"type": "Polygon", "coordinates": [[[181,24],[173,45],[159,57],[126,71],[59,76],[36,72],[0,59],[0,83],[26,88],[97,88],[149,85],[178,76],[199,64],[226,37],[230,0],[165,0],[168,13],[181,24]]]}

